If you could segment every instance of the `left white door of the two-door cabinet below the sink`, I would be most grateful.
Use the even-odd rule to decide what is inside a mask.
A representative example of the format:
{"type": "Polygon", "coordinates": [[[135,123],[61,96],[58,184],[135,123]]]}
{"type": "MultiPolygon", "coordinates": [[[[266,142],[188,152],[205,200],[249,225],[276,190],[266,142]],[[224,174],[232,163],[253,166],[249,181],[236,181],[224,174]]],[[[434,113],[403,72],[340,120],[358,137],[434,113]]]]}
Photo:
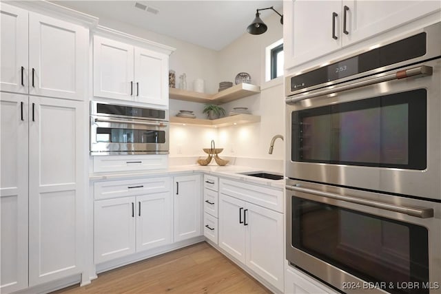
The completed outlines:
{"type": "Polygon", "coordinates": [[[219,246],[243,264],[245,264],[244,209],[245,201],[220,194],[219,246]]]}

